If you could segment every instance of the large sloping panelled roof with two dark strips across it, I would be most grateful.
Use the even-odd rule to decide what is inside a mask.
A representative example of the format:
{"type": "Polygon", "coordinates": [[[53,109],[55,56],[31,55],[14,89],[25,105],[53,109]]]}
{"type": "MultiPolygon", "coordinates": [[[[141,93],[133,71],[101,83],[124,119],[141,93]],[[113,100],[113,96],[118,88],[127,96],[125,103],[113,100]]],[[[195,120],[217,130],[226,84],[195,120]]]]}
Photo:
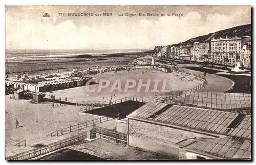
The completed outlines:
{"type": "Polygon", "coordinates": [[[131,117],[251,139],[250,115],[150,101],[127,116],[131,117]]]}

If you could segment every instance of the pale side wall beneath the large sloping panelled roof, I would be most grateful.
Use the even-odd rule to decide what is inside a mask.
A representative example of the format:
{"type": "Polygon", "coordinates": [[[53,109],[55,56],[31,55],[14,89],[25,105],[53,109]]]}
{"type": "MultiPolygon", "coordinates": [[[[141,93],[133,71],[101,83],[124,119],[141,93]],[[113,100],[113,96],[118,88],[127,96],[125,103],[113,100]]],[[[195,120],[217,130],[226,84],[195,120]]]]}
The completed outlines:
{"type": "Polygon", "coordinates": [[[213,136],[129,119],[129,145],[179,158],[176,143],[193,137],[213,136]]]}

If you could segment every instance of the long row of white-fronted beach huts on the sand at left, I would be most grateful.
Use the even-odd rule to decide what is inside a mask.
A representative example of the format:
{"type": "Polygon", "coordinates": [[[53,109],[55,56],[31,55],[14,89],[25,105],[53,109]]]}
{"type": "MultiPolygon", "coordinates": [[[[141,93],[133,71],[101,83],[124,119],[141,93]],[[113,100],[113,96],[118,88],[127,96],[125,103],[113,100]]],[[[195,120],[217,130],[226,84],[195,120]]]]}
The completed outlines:
{"type": "Polygon", "coordinates": [[[6,81],[7,87],[29,90],[30,92],[49,92],[74,87],[80,87],[86,84],[89,78],[76,78],[76,79],[55,79],[50,81],[41,81],[38,84],[26,84],[24,82],[6,81]]]}

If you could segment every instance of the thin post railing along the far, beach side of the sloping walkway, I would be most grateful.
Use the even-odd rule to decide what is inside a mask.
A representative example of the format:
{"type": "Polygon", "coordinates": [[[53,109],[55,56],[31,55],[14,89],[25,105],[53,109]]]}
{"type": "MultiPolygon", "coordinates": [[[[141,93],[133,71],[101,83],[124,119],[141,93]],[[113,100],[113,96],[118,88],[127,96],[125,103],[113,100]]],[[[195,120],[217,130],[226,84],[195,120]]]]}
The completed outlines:
{"type": "Polygon", "coordinates": [[[94,124],[99,124],[99,123],[102,123],[102,122],[106,122],[106,121],[109,121],[111,119],[112,118],[108,118],[108,117],[100,117],[100,118],[97,118],[97,119],[94,119],[94,120],[91,120],[91,121],[86,121],[86,122],[83,122],[83,123],[78,123],[76,125],[71,125],[71,126],[66,127],[66,128],[61,128],[59,130],[56,130],[56,131],[53,131],[53,132],[49,133],[47,136],[49,136],[49,135],[51,135],[51,137],[52,136],[61,136],[63,134],[67,134],[67,133],[74,132],[74,131],[77,131],[79,133],[79,130],[81,130],[81,129],[93,126],[94,124]]]}

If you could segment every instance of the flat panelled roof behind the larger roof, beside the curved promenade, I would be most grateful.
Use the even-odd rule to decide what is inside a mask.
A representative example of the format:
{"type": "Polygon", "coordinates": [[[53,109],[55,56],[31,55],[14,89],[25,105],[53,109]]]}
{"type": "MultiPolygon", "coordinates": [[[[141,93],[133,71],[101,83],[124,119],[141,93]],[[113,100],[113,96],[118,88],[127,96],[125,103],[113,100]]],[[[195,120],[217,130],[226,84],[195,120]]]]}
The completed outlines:
{"type": "Polygon", "coordinates": [[[251,107],[251,94],[183,92],[179,101],[184,104],[204,106],[208,108],[231,109],[251,107]]]}

